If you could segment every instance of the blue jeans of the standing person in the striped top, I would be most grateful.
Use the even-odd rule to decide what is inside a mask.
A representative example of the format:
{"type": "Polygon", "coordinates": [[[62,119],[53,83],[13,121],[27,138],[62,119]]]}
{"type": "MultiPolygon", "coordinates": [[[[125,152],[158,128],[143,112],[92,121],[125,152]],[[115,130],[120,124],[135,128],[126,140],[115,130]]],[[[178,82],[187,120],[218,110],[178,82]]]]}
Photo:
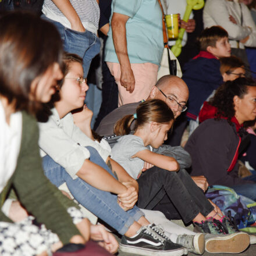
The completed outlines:
{"type": "Polygon", "coordinates": [[[87,77],[91,60],[99,53],[101,42],[94,33],[86,30],[78,32],[72,29],[67,29],[61,23],[55,20],[48,19],[45,15],[42,18],[53,23],[61,34],[63,47],[66,52],[77,54],[83,58],[84,77],[87,77]]]}

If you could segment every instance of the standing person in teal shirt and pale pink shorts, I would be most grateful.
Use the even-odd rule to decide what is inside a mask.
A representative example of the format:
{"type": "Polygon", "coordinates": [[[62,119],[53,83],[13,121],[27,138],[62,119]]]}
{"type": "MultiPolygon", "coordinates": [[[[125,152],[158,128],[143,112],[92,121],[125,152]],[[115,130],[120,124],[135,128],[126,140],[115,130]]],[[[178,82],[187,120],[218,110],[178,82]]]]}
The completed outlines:
{"type": "Polygon", "coordinates": [[[119,106],[148,98],[163,53],[158,0],[112,1],[105,61],[115,77],[119,106]]]}

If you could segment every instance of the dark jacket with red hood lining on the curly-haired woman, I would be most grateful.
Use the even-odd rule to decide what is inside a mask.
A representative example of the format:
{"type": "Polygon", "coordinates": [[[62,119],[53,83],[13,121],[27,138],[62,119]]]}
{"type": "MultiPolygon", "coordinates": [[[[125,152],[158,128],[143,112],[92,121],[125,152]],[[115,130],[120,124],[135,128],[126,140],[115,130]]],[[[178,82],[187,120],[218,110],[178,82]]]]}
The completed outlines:
{"type": "Polygon", "coordinates": [[[236,118],[232,125],[226,119],[214,119],[216,108],[203,106],[200,126],[191,134],[185,150],[192,158],[191,175],[204,175],[209,185],[232,187],[253,183],[238,177],[239,147],[246,140],[246,133],[236,118]]]}

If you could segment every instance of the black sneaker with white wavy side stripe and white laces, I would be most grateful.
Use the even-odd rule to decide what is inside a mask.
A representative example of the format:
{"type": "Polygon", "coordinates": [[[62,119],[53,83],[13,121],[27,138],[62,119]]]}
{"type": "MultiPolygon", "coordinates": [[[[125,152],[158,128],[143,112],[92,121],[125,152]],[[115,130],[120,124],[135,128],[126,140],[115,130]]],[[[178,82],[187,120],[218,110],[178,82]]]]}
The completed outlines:
{"type": "Polygon", "coordinates": [[[168,255],[181,256],[186,249],[166,240],[150,226],[142,226],[133,237],[122,236],[120,250],[136,255],[168,255]]]}

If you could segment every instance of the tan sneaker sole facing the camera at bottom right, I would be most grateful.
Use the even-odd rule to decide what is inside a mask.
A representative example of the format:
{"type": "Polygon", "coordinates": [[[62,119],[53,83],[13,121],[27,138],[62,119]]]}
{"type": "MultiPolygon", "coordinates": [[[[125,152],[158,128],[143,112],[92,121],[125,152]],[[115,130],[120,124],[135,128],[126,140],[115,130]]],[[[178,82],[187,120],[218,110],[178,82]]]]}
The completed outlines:
{"type": "Polygon", "coordinates": [[[234,233],[225,237],[212,237],[205,241],[208,253],[241,253],[250,245],[250,237],[246,233],[234,233]]]}

